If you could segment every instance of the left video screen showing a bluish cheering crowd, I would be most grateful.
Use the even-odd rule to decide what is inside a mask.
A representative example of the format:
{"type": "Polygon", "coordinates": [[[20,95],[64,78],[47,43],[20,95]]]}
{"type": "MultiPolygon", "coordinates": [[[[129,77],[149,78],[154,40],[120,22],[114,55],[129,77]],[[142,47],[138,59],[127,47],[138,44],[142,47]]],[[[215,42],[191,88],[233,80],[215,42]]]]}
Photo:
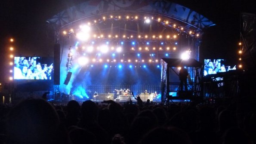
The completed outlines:
{"type": "Polygon", "coordinates": [[[52,80],[52,57],[14,57],[14,80],[52,80]]]}

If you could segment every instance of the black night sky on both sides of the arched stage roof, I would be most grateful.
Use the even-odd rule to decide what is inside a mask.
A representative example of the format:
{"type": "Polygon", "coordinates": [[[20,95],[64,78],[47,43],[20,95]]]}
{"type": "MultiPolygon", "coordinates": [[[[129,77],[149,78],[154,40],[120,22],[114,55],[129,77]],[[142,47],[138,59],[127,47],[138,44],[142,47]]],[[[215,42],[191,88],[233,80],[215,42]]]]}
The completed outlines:
{"type": "MultiPolygon", "coordinates": [[[[17,53],[53,55],[45,41],[51,39],[45,21],[54,14],[83,0],[0,0],[1,60],[6,58],[8,37],[17,37],[17,53]]],[[[204,31],[201,55],[209,58],[237,60],[237,42],[240,40],[240,13],[256,13],[254,0],[171,0],[204,15],[216,26],[204,31]]],[[[2,72],[1,72],[2,73],[2,72]]],[[[0,73],[0,74],[1,74],[0,73]]],[[[2,75],[2,74],[1,74],[2,75]]]]}

